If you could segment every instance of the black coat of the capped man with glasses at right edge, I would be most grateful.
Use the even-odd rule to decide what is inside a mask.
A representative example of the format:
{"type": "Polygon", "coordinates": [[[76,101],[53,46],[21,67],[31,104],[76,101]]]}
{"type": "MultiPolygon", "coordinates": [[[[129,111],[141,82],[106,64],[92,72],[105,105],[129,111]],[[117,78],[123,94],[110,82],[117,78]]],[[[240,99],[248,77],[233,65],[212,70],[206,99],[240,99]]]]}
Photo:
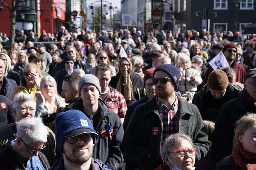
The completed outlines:
{"type": "Polygon", "coordinates": [[[212,141],[212,154],[215,163],[231,155],[236,121],[247,112],[253,113],[249,108],[242,101],[241,93],[237,98],[226,102],[220,108],[212,141]]]}

